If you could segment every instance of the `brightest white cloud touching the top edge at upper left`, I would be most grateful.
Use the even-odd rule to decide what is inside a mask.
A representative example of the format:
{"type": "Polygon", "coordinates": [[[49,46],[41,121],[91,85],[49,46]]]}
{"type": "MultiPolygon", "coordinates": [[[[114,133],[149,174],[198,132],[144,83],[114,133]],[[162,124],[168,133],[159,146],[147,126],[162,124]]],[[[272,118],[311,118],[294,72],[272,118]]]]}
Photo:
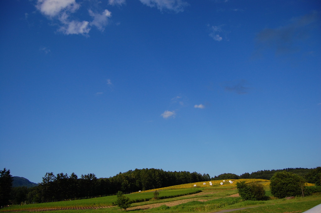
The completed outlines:
{"type": "Polygon", "coordinates": [[[74,12],[79,8],[75,0],[38,0],[36,5],[41,13],[54,17],[64,10],[74,12]]]}

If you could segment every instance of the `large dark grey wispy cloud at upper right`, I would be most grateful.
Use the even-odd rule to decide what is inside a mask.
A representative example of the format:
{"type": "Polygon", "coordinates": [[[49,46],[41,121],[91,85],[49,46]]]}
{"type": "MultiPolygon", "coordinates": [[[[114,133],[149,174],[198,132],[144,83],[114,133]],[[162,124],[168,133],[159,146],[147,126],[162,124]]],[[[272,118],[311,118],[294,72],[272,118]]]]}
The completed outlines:
{"type": "Polygon", "coordinates": [[[320,19],[317,12],[292,18],[287,25],[278,28],[266,28],[256,36],[258,53],[272,49],[276,53],[299,51],[299,43],[306,40],[312,30],[319,28],[320,19]]]}

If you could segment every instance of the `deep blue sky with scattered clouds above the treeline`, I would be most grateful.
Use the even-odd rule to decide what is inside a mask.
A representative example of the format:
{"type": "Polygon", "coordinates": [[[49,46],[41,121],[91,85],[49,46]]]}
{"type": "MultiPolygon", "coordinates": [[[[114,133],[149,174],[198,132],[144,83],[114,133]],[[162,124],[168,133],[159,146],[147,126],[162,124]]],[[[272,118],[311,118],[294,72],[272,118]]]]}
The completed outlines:
{"type": "Polygon", "coordinates": [[[3,0],[0,167],[321,166],[317,0],[3,0]]]}

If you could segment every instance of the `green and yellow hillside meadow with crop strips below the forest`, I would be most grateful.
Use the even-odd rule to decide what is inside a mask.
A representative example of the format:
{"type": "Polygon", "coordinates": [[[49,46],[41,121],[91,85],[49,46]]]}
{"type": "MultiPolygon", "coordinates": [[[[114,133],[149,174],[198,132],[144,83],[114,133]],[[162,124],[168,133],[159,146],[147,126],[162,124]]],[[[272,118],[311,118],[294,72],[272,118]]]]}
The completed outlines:
{"type": "MultiPolygon", "coordinates": [[[[197,182],[159,188],[156,190],[159,192],[160,200],[152,199],[155,190],[126,194],[133,202],[127,211],[133,213],[180,213],[219,212],[225,209],[241,209],[233,212],[299,213],[321,203],[320,194],[304,198],[275,199],[271,196],[269,181],[264,179],[239,179],[230,181],[232,181],[232,183],[230,183],[229,180],[226,180],[225,182],[223,182],[223,180],[218,180],[211,181],[211,184],[210,182],[197,182]],[[262,184],[265,188],[266,195],[269,196],[270,199],[266,201],[242,201],[237,194],[236,188],[236,183],[239,181],[262,184]],[[221,183],[223,184],[221,185],[221,183]]],[[[12,206],[1,209],[0,212],[19,211],[23,213],[48,210],[57,213],[120,212],[120,209],[113,205],[115,201],[116,196],[114,195],[84,200],[67,200],[12,206]]]]}

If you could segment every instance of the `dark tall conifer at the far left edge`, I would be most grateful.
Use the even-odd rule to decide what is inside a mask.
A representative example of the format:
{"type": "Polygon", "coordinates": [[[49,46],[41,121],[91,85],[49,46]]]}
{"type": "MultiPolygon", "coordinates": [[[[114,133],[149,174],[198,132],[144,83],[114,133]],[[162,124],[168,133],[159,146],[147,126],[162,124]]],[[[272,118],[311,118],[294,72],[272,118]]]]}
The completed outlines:
{"type": "Polygon", "coordinates": [[[0,208],[9,204],[10,192],[12,189],[13,177],[10,169],[0,171],[0,208]]]}

